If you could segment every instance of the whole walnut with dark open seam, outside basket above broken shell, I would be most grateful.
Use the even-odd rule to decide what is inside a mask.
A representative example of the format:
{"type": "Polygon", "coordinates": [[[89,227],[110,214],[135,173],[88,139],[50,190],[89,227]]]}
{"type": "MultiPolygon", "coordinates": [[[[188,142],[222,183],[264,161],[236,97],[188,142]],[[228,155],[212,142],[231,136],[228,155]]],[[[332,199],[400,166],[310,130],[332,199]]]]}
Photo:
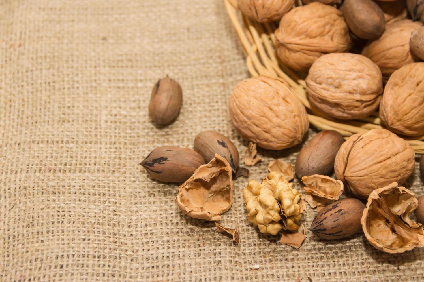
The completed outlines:
{"type": "Polygon", "coordinates": [[[349,137],[337,153],[334,170],[345,189],[366,199],[375,189],[394,181],[404,183],[415,167],[415,152],[386,129],[349,137]]]}

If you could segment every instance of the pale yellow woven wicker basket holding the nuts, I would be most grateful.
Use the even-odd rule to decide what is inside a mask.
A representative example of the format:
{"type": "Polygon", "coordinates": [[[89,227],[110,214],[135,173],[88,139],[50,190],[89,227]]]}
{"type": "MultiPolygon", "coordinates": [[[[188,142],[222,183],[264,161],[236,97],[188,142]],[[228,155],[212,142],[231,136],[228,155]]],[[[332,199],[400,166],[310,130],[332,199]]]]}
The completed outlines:
{"type": "MultiPolygon", "coordinates": [[[[275,23],[261,24],[241,15],[242,23],[237,15],[237,0],[224,0],[229,17],[234,25],[240,43],[246,52],[246,65],[252,76],[259,74],[284,79],[296,96],[305,105],[310,123],[320,130],[335,130],[343,134],[345,139],[353,134],[366,132],[370,129],[382,128],[378,113],[367,118],[357,120],[335,120],[318,115],[309,103],[306,84],[303,79],[305,74],[297,74],[285,66],[276,55],[274,30],[278,27],[275,23]]],[[[240,13],[241,14],[241,13],[240,13]]],[[[406,138],[416,153],[424,153],[424,136],[406,138]]]]}

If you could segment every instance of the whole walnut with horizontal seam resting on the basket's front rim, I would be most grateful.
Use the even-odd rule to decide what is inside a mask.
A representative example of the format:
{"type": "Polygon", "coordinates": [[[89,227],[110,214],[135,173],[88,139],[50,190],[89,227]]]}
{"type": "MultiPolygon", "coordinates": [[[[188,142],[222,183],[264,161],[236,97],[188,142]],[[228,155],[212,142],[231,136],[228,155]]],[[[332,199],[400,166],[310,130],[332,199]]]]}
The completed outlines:
{"type": "Polygon", "coordinates": [[[340,119],[373,113],[383,93],[378,66],[363,55],[331,53],[318,58],[306,78],[313,107],[340,119]]]}

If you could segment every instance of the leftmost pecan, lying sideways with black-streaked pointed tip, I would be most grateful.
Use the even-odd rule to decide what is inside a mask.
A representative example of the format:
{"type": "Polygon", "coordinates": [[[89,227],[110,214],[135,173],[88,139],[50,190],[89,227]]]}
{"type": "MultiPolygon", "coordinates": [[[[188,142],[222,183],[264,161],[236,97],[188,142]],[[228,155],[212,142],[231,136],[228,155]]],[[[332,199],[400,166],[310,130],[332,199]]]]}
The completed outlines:
{"type": "Polygon", "coordinates": [[[152,178],[178,183],[186,181],[202,164],[205,161],[199,153],[174,146],[155,148],[140,163],[152,178]]]}

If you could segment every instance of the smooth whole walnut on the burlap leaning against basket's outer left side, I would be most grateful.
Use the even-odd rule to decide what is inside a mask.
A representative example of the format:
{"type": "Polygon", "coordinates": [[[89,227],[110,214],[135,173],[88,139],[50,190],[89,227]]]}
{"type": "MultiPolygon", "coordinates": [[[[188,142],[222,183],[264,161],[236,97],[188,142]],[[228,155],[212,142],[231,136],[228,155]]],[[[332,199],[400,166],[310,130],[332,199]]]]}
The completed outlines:
{"type": "Polygon", "coordinates": [[[230,97],[229,110],[240,135],[265,149],[297,145],[309,128],[304,105],[281,81],[271,77],[239,82],[230,97]]]}

